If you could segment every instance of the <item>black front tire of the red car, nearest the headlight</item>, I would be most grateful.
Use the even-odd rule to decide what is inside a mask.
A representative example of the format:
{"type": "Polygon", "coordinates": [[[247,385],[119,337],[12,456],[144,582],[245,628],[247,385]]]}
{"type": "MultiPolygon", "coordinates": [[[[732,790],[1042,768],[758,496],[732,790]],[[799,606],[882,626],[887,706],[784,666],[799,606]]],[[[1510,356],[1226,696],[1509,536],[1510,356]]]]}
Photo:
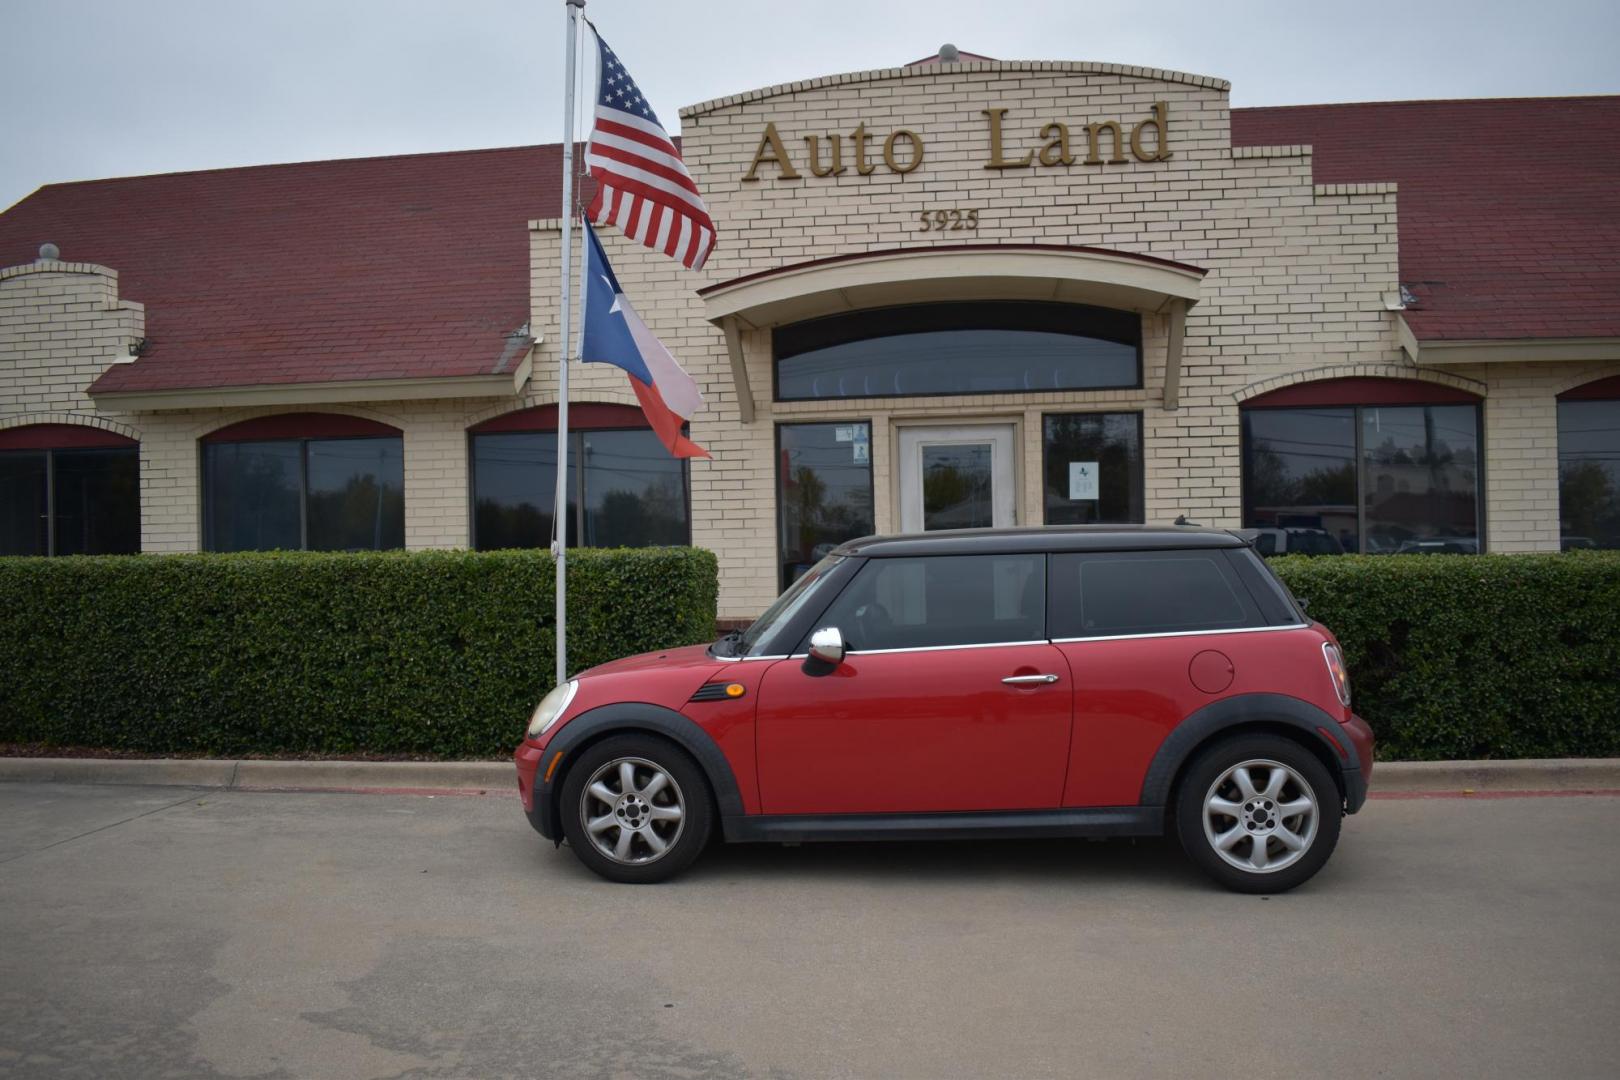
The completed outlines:
{"type": "Polygon", "coordinates": [[[642,733],[612,735],[586,748],[562,780],[557,813],[569,847],[580,861],[608,881],[627,884],[674,878],[703,852],[714,827],[714,798],[698,763],[672,742],[642,733]],[[629,800],[619,780],[619,763],[625,761],[632,763],[635,777],[629,800]],[[666,782],[643,798],[642,792],[653,787],[656,772],[663,772],[666,782]],[[599,792],[586,798],[593,780],[619,798],[609,803],[599,792]],[[667,816],[672,805],[680,810],[679,821],[661,819],[659,814],[667,816]],[[595,834],[588,831],[586,821],[604,816],[614,821],[595,834]],[[620,848],[624,837],[629,837],[627,847],[620,848]],[[663,844],[664,850],[654,850],[654,844],[663,844]],[[624,857],[617,858],[604,847],[617,848],[624,857]]]}

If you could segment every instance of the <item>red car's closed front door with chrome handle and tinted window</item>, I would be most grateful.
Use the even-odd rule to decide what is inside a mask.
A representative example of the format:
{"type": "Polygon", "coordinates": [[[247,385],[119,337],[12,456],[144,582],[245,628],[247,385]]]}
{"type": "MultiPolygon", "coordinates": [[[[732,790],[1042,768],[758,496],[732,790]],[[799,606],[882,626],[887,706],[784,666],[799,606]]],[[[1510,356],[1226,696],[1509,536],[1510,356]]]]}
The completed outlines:
{"type": "Polygon", "coordinates": [[[763,811],[1058,806],[1071,701],[1045,570],[1040,554],[868,559],[816,620],[844,661],[781,661],[760,687],[763,811]]]}

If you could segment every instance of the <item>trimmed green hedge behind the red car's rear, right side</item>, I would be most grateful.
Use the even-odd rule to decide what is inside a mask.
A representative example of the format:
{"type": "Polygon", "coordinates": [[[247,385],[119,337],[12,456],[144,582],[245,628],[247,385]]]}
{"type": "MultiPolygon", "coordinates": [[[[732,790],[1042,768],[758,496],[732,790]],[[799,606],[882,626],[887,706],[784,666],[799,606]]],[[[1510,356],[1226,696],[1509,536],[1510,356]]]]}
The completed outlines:
{"type": "Polygon", "coordinates": [[[1270,560],[1380,758],[1620,756],[1620,552],[1270,560]]]}

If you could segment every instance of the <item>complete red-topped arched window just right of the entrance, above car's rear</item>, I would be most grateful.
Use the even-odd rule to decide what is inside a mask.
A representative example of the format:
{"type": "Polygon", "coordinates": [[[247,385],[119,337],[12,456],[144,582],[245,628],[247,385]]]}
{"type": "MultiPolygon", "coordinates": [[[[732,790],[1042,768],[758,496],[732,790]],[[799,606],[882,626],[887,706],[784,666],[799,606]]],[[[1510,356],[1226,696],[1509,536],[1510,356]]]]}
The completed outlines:
{"type": "Polygon", "coordinates": [[[1243,406],[1243,523],[1264,554],[1473,554],[1479,398],[1408,379],[1328,379],[1243,406]]]}

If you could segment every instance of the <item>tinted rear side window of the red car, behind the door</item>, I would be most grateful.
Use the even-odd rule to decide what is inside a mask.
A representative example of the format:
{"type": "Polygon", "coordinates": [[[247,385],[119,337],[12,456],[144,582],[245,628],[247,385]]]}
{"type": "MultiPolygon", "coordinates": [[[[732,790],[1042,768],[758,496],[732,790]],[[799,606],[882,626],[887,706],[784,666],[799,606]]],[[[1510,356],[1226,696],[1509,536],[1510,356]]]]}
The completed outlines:
{"type": "Polygon", "coordinates": [[[1051,636],[1262,627],[1220,551],[1119,551],[1051,557],[1051,636]]]}

